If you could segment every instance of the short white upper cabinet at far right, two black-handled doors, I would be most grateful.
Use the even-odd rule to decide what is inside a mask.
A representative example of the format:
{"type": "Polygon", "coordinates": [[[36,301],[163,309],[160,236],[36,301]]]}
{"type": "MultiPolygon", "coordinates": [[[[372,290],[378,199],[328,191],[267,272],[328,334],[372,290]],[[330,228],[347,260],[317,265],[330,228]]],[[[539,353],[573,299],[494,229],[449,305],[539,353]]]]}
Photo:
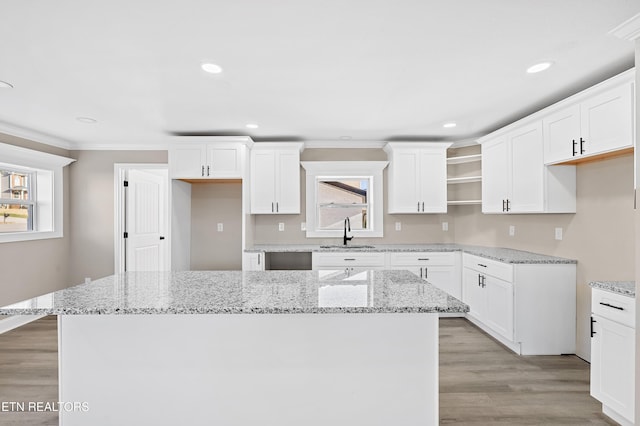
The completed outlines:
{"type": "Polygon", "coordinates": [[[633,79],[627,71],[549,107],[542,119],[545,164],[632,148],[633,79]]]}

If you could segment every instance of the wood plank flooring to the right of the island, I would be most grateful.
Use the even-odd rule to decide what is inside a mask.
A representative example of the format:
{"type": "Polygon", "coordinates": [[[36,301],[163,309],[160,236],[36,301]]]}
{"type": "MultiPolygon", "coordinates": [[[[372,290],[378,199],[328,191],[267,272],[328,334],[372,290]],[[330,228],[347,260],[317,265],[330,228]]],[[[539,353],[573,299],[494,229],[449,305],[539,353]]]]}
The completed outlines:
{"type": "Polygon", "coordinates": [[[518,356],[465,319],[440,321],[440,424],[616,425],[573,355],[518,356]]]}

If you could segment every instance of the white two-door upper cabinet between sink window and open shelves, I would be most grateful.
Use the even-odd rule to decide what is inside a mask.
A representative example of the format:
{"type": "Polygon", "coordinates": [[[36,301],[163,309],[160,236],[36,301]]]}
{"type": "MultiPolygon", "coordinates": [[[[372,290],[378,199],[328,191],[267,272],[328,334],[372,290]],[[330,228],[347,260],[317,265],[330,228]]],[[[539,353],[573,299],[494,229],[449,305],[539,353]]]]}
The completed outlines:
{"type": "Polygon", "coordinates": [[[447,148],[451,143],[390,142],[388,212],[447,212],[447,148]]]}

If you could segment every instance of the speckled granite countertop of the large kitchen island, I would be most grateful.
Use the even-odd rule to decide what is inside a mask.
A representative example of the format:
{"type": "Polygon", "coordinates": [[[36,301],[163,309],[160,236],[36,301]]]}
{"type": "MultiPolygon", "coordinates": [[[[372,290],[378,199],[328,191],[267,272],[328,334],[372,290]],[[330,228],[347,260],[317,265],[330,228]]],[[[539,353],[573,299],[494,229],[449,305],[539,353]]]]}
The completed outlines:
{"type": "Polygon", "coordinates": [[[408,271],[127,272],[0,308],[0,315],[468,312],[408,271]]]}

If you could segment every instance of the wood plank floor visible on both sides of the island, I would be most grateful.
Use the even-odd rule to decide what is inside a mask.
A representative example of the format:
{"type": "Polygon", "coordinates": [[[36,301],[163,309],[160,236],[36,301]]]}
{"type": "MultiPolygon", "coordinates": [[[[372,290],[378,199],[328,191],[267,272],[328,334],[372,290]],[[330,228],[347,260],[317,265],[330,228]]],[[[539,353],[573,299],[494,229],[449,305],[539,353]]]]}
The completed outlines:
{"type": "MultiPolygon", "coordinates": [[[[0,403],[57,401],[57,331],[47,317],[0,335],[0,403]]],[[[56,413],[0,412],[1,425],[57,425],[56,413]]],[[[440,424],[615,425],[589,396],[589,364],[521,357],[464,319],[440,321],[440,424]]],[[[402,426],[402,425],[398,425],[402,426]]]]}

